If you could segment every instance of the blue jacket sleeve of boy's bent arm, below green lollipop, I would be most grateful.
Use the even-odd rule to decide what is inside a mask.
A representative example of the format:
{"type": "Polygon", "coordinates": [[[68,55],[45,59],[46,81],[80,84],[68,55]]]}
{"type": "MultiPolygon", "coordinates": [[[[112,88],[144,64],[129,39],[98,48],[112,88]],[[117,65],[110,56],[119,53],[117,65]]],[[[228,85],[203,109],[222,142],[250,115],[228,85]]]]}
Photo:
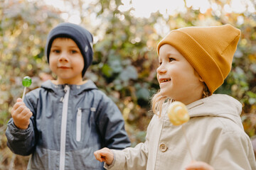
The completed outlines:
{"type": "Polygon", "coordinates": [[[26,130],[21,130],[14,124],[13,118],[9,120],[6,128],[7,146],[14,154],[20,154],[27,156],[33,153],[36,147],[36,135],[35,135],[35,123],[34,123],[34,111],[31,108],[31,103],[25,98],[24,103],[31,110],[33,115],[30,118],[30,123],[26,130]]]}

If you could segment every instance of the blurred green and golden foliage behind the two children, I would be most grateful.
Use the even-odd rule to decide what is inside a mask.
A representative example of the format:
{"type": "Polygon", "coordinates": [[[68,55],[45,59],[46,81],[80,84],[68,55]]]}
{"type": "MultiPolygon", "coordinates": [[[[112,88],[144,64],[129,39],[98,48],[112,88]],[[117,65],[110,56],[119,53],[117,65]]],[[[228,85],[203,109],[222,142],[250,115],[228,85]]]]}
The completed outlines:
{"type": "MultiPolygon", "coordinates": [[[[94,60],[85,76],[117,103],[132,146],[144,142],[152,116],[149,101],[159,89],[156,81],[157,42],[166,30],[185,26],[230,23],[242,31],[233,69],[215,93],[229,94],[242,103],[245,132],[250,137],[255,136],[256,15],[247,11],[225,12],[225,4],[230,3],[228,0],[211,0],[210,3],[218,8],[201,13],[186,6],[186,11],[171,16],[156,12],[149,18],[136,18],[131,14],[132,8],[119,10],[121,0],[95,0],[87,5],[84,5],[85,0],[65,1],[66,6],[78,11],[81,25],[95,37],[94,60]]],[[[0,169],[26,169],[28,157],[18,157],[6,147],[6,123],[16,98],[22,96],[23,77],[32,77],[33,84],[28,90],[52,79],[44,46],[49,30],[66,21],[60,17],[63,15],[67,16],[68,11],[47,6],[43,1],[0,3],[0,169]]]]}

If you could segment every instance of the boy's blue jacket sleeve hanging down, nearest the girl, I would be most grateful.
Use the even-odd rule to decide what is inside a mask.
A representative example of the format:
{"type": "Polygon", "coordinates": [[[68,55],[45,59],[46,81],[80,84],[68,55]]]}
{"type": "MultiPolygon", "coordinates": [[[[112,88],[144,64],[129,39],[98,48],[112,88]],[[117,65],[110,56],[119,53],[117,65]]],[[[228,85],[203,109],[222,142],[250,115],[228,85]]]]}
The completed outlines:
{"type": "Polygon", "coordinates": [[[102,137],[102,147],[110,149],[124,149],[131,145],[124,129],[122,113],[115,103],[103,96],[98,108],[97,126],[102,137]]]}

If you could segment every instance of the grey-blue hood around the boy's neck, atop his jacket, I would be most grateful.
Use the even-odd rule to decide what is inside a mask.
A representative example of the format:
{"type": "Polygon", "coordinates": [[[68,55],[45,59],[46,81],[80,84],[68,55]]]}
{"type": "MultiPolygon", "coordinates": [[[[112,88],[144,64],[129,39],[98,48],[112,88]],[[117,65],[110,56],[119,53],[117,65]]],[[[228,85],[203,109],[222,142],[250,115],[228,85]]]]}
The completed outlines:
{"type": "Polygon", "coordinates": [[[63,89],[65,88],[66,85],[70,86],[70,90],[72,91],[72,93],[74,95],[78,95],[78,94],[82,93],[82,91],[89,91],[92,89],[97,89],[97,86],[91,80],[88,80],[85,84],[81,84],[81,85],[76,85],[76,84],[58,84],[58,85],[56,85],[56,84],[53,84],[52,81],[48,80],[48,81],[43,82],[41,87],[43,89],[55,91],[55,93],[58,94],[58,91],[63,92],[63,89]]]}

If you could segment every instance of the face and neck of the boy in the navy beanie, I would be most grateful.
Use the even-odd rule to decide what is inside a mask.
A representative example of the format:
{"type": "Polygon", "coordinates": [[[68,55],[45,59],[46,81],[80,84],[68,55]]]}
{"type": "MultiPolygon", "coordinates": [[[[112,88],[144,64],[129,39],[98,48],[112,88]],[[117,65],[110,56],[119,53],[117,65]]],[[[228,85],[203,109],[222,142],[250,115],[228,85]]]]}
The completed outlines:
{"type": "Polygon", "coordinates": [[[80,84],[84,60],[78,45],[70,38],[56,38],[50,47],[50,69],[57,84],[80,84]]]}

